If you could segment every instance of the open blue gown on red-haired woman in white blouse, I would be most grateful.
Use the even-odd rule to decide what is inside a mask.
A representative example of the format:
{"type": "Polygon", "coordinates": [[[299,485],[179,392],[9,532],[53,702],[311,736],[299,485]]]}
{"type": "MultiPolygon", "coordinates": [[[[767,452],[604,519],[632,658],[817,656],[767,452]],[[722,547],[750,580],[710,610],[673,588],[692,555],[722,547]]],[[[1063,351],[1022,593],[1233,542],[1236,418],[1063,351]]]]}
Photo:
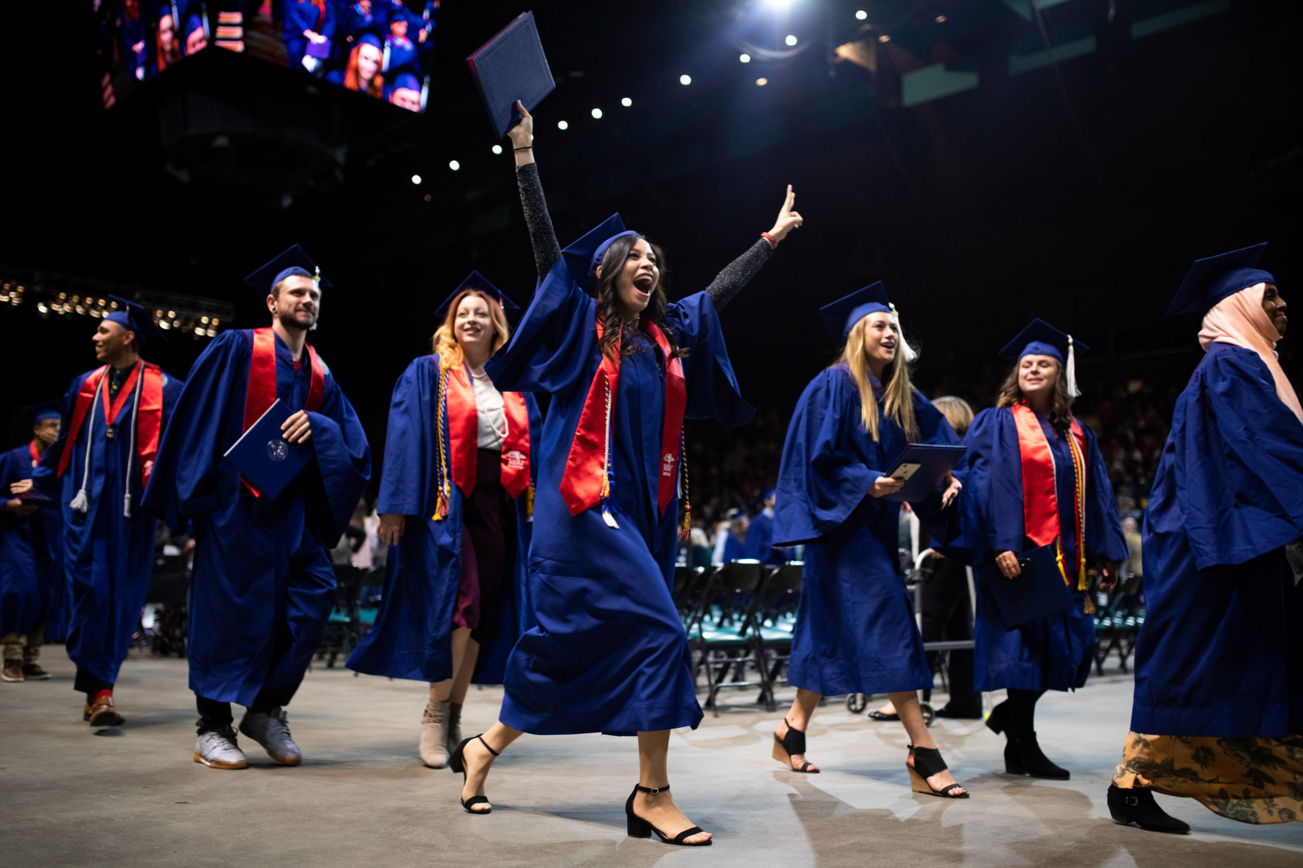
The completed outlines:
{"type": "MultiPolygon", "coordinates": [[[[390,427],[384,441],[384,472],[377,511],[405,515],[403,539],[391,545],[384,562],[384,595],[375,626],[348,658],[348,668],[367,675],[444,681],[452,678],[452,610],[461,578],[461,510],[465,497],[456,483],[448,517],[434,521],[439,478],[435,440],[439,357],[412,362],[394,387],[390,427]]],[[[529,411],[530,476],[537,479],[542,415],[534,396],[525,394],[529,411]]],[[[443,422],[444,449],[448,444],[443,422]]],[[[493,644],[480,649],[473,681],[500,685],[507,656],[520,634],[534,626],[526,587],[526,560],[533,517],[529,495],[516,498],[516,545],[504,563],[515,588],[504,595],[499,630],[493,644]]]]}

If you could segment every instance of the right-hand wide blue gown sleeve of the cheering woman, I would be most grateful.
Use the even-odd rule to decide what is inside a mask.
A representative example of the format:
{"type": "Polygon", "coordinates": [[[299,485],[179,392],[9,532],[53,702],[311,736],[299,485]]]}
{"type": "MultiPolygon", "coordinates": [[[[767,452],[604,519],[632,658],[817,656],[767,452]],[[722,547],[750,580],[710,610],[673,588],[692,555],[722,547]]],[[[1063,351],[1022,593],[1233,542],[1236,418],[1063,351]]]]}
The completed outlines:
{"type": "Polygon", "coordinates": [[[674,329],[679,346],[688,350],[688,355],[681,358],[688,389],[684,418],[717,419],[726,426],[751,422],[756,409],[741,398],[719,328],[719,315],[710,297],[694,293],[674,302],[666,307],[665,321],[674,329]]]}

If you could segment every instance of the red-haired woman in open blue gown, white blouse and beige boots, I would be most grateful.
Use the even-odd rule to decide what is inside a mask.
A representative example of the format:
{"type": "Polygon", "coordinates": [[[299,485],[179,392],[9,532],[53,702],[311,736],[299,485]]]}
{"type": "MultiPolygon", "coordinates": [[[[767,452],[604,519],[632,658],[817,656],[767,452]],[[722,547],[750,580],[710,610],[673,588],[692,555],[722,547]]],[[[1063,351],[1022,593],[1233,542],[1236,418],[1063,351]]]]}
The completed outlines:
{"type": "Polygon", "coordinates": [[[533,626],[525,583],[542,416],[483,372],[519,311],[480,272],[437,311],[430,355],[394,387],[378,534],[390,545],[375,626],[348,658],[369,675],[430,682],[421,760],[447,765],[472,681],[500,685],[533,626]],[[438,426],[438,427],[437,427],[438,426]]]}

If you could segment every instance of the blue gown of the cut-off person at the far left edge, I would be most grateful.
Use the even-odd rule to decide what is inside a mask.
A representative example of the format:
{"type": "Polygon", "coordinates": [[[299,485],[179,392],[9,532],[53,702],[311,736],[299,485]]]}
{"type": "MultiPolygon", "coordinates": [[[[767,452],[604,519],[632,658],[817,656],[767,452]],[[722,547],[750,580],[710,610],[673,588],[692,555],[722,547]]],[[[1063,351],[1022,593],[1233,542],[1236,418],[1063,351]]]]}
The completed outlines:
{"type": "MultiPolygon", "coordinates": [[[[0,497],[8,500],[9,485],[30,476],[27,444],[0,453],[0,497]]],[[[40,511],[46,510],[30,515],[0,513],[0,636],[10,632],[27,635],[46,613],[50,557],[47,550],[46,575],[42,576],[36,558],[44,535],[38,544],[33,534],[33,527],[40,523],[40,511]]]]}

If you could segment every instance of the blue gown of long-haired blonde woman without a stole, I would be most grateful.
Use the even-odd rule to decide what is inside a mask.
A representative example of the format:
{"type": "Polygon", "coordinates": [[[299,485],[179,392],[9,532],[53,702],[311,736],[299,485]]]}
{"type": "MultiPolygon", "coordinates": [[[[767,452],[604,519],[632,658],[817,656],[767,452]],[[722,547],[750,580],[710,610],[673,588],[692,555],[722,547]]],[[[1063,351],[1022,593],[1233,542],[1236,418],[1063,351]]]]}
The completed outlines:
{"type": "MultiPolygon", "coordinates": [[[[868,496],[909,442],[883,413],[882,388],[873,384],[877,442],[860,422],[860,392],[838,364],[801,393],[778,470],[774,543],[805,543],[787,681],[821,696],[932,687],[913,600],[896,561],[900,504],[868,496]]],[[[917,390],[913,411],[917,442],[959,442],[917,390]]],[[[934,493],[915,508],[933,523],[939,505],[934,493]]]]}

